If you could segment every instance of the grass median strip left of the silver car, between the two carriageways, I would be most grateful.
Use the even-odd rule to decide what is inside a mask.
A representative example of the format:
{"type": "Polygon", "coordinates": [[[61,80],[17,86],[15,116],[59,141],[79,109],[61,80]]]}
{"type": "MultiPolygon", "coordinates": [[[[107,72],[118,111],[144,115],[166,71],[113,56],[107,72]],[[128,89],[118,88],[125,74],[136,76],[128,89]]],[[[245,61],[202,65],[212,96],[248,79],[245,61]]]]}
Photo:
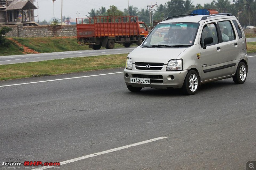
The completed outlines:
{"type": "Polygon", "coordinates": [[[0,80],[125,67],[128,54],[0,65],[0,80]]]}

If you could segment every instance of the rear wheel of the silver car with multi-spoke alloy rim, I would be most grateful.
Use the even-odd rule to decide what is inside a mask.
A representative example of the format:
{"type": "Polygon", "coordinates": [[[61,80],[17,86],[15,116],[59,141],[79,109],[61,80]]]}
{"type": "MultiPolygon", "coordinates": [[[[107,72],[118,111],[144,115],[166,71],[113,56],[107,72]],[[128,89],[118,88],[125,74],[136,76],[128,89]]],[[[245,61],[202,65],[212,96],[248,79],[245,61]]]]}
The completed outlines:
{"type": "Polygon", "coordinates": [[[233,77],[233,81],[236,84],[243,84],[247,78],[247,67],[244,62],[240,62],[236,69],[236,74],[233,77]]]}

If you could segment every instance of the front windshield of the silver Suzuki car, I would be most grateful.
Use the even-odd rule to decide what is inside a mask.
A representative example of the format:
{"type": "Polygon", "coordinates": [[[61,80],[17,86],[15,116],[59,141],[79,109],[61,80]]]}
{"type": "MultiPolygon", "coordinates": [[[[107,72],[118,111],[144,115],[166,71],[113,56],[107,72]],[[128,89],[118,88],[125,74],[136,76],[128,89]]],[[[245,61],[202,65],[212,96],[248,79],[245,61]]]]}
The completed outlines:
{"type": "Polygon", "coordinates": [[[194,43],[198,23],[160,23],[148,34],[143,47],[189,47],[194,43]]]}

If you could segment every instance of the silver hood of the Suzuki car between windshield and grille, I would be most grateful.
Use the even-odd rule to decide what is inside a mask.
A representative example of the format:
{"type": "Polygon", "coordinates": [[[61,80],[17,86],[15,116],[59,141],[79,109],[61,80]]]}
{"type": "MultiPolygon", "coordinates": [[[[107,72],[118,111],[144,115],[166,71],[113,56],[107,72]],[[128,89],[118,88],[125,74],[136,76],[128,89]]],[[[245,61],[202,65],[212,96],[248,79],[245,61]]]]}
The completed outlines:
{"type": "Polygon", "coordinates": [[[132,58],[132,63],[164,63],[169,60],[177,59],[177,57],[187,48],[135,48],[129,55],[132,58]]]}

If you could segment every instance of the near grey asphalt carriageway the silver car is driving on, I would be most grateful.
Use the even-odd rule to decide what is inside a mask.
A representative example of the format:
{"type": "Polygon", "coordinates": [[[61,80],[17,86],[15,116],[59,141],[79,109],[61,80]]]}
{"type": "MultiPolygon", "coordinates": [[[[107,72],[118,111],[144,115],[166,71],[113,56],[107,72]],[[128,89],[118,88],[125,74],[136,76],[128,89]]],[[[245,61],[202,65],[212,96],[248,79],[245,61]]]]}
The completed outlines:
{"type": "Polygon", "coordinates": [[[193,96],[129,92],[123,69],[1,81],[0,159],[61,170],[246,169],[256,160],[255,56],[249,62],[243,85],[224,79],[193,96]]]}

